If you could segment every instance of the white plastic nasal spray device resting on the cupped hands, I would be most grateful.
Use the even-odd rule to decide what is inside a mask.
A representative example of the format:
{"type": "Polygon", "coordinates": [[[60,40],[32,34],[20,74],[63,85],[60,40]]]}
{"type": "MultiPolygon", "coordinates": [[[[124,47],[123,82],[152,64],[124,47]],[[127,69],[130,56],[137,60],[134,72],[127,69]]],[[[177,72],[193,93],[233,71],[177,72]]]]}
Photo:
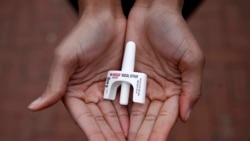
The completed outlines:
{"type": "Polygon", "coordinates": [[[129,41],[124,51],[122,70],[108,71],[104,99],[115,100],[117,88],[121,86],[120,104],[128,105],[130,85],[133,87],[133,102],[145,103],[147,75],[134,72],[136,45],[129,41]]]}

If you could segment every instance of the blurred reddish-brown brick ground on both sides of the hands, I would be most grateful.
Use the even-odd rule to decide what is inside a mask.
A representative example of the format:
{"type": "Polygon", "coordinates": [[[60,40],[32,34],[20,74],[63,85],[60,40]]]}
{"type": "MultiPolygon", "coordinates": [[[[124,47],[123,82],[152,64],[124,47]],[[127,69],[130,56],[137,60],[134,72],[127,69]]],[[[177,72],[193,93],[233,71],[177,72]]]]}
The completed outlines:
{"type": "MultiPolygon", "coordinates": [[[[250,141],[250,1],[206,0],[188,24],[206,55],[203,96],[170,141],[250,141]]],[[[63,104],[26,107],[46,86],[53,50],[77,21],[65,0],[0,1],[0,140],[82,141],[63,104]]]]}

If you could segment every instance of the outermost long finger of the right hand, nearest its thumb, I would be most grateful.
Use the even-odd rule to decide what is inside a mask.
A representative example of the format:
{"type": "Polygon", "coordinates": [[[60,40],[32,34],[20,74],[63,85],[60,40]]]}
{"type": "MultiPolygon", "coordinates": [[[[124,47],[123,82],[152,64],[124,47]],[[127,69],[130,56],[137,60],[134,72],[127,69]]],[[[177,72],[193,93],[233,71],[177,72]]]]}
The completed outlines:
{"type": "Polygon", "coordinates": [[[178,98],[178,96],[172,96],[162,105],[149,137],[150,141],[165,141],[167,139],[178,117],[178,98]]]}

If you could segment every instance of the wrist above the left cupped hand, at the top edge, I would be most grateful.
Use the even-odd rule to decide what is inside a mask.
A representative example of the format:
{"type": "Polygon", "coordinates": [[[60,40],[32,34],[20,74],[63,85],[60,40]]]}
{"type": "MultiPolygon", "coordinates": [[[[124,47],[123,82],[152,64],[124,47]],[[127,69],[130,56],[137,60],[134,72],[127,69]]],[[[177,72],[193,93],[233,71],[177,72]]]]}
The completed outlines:
{"type": "Polygon", "coordinates": [[[78,0],[79,15],[88,13],[92,15],[109,12],[115,17],[123,16],[120,0],[78,0]]]}

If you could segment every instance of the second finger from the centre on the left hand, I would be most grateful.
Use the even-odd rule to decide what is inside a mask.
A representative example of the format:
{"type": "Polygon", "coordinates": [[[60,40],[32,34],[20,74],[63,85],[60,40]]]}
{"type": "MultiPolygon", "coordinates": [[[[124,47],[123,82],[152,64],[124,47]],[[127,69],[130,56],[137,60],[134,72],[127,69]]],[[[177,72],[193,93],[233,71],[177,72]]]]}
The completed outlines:
{"type": "Polygon", "coordinates": [[[111,101],[102,101],[98,104],[98,107],[100,108],[107,124],[112,129],[112,131],[115,133],[116,137],[120,141],[125,141],[125,135],[123,133],[121,124],[119,122],[117,111],[114,108],[111,101]]]}

